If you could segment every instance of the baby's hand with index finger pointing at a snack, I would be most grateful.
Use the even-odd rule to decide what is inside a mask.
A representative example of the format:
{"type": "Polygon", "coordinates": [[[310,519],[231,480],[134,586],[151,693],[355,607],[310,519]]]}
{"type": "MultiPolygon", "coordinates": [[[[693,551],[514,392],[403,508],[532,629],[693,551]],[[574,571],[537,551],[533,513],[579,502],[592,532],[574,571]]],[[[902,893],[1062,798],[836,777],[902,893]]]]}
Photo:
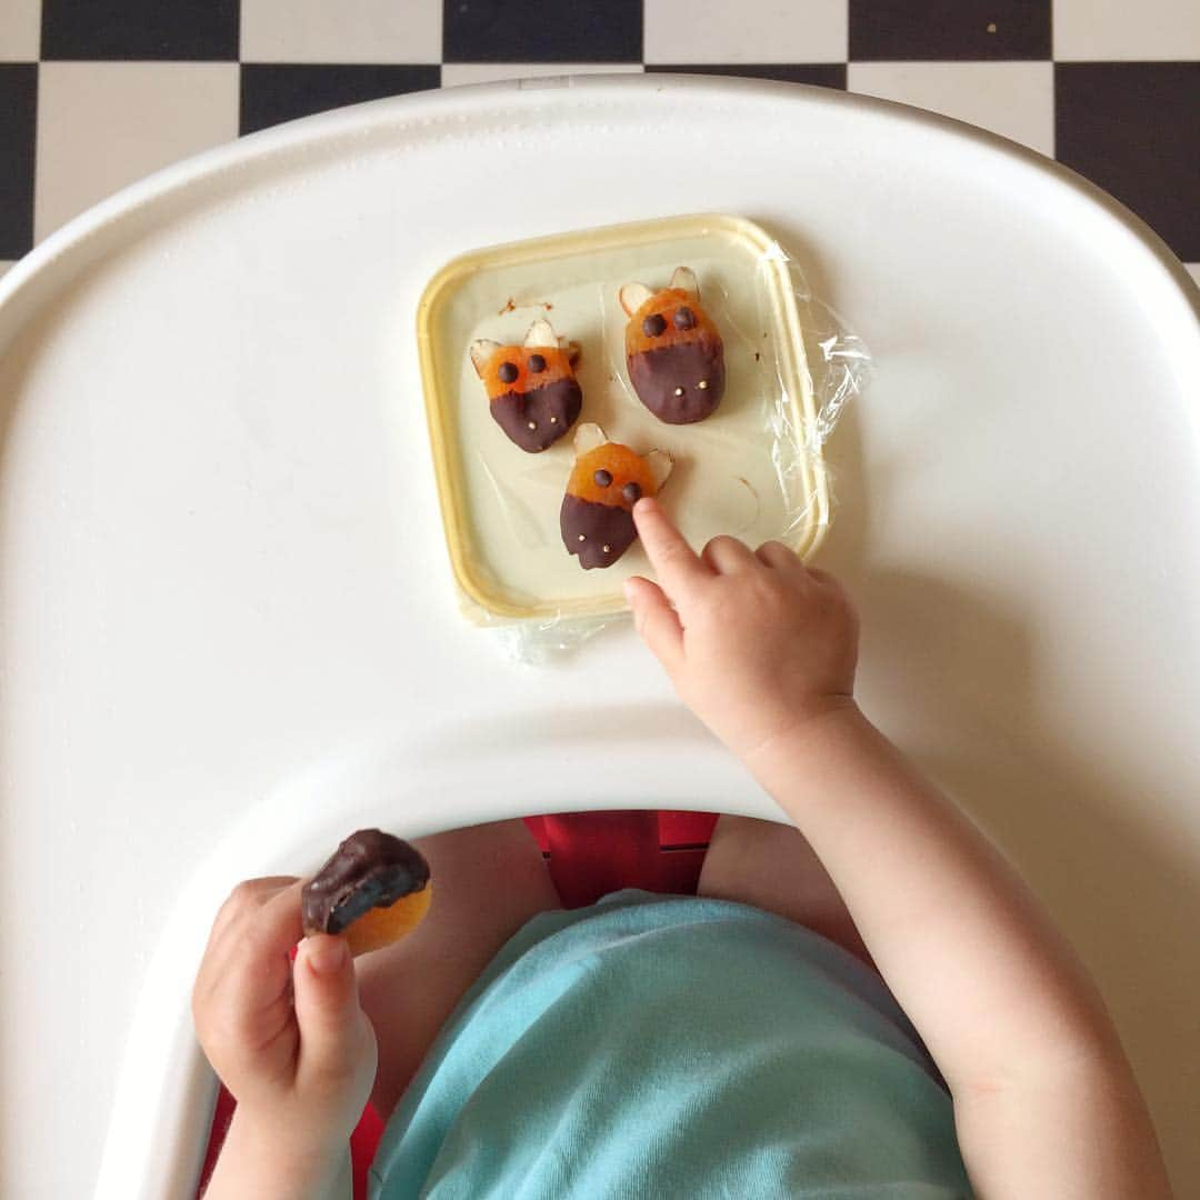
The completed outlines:
{"type": "Polygon", "coordinates": [[[634,520],[659,577],[625,584],[634,623],[680,698],[734,754],[750,760],[812,718],[853,707],[858,618],[832,576],[778,541],[751,551],[714,538],[697,556],[652,499],[637,502],[634,520]]]}

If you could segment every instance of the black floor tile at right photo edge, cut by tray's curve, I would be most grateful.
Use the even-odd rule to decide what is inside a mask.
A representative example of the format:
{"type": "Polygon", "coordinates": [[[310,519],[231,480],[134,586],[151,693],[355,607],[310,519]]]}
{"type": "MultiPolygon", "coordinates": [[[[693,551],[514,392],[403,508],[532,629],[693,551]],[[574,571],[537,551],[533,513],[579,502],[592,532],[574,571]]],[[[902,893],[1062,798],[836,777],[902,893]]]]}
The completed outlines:
{"type": "Polygon", "coordinates": [[[1200,62],[1058,62],[1055,157],[1200,259],[1200,62]],[[1189,116],[1190,114],[1190,116],[1189,116]]]}

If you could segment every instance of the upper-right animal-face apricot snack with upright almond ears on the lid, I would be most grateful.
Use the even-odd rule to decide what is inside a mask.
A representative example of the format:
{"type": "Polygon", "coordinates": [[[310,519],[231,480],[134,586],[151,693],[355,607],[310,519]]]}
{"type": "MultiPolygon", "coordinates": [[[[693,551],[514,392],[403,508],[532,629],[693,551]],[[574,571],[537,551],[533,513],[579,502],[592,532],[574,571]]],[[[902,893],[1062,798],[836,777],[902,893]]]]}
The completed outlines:
{"type": "Polygon", "coordinates": [[[652,292],[626,283],[619,293],[629,316],[625,365],[638,400],[668,425],[710,416],[725,394],[725,346],[700,304],[700,286],[686,266],[652,292]]]}

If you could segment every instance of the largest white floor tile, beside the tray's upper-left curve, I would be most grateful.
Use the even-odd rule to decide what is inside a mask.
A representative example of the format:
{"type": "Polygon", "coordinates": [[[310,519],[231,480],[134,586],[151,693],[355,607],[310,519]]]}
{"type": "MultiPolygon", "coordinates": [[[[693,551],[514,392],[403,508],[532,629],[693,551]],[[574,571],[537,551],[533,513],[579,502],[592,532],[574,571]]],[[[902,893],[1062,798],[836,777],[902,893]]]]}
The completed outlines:
{"type": "Polygon", "coordinates": [[[43,62],[34,234],[238,136],[235,62],[43,62]]]}

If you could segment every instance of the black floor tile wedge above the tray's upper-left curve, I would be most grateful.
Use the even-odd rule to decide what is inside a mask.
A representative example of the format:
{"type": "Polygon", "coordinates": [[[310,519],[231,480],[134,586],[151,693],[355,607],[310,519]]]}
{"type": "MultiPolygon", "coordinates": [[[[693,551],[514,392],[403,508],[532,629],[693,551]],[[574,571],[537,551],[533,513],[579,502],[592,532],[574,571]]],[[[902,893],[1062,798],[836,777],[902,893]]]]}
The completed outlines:
{"type": "Polygon", "coordinates": [[[440,82],[438,66],[242,64],[240,131],[253,133],[343,104],[437,88],[440,82]]]}

